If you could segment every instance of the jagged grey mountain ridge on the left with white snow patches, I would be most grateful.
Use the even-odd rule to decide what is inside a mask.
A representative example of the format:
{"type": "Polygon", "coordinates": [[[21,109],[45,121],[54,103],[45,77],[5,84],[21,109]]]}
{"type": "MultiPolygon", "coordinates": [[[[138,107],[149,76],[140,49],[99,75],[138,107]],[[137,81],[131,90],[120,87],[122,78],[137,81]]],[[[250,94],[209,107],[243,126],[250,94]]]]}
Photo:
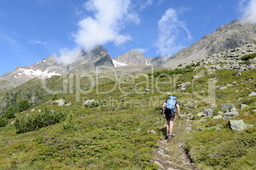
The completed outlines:
{"type": "Polygon", "coordinates": [[[69,65],[57,64],[59,56],[50,55],[43,58],[41,62],[31,66],[17,67],[12,72],[8,72],[0,77],[0,89],[16,87],[34,78],[46,79],[53,75],[73,74],[90,72],[96,67],[115,67],[112,58],[103,46],[97,46],[89,53],[82,51],[82,56],[76,62],[69,65]]]}

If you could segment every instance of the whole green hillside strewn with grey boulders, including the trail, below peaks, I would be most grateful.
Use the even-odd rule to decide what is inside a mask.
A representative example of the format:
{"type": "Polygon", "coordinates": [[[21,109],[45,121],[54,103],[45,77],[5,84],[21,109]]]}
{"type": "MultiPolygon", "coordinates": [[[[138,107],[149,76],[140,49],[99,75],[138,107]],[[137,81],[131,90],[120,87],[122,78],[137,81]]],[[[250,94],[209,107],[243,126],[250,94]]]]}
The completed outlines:
{"type": "Polygon", "coordinates": [[[22,98],[30,105],[0,128],[0,169],[253,169],[256,60],[243,50],[253,47],[171,70],[55,75],[3,91],[3,112],[22,98]],[[176,136],[166,141],[160,108],[171,94],[181,133],[176,119],[176,136]],[[35,126],[39,115],[59,121],[35,126]]]}

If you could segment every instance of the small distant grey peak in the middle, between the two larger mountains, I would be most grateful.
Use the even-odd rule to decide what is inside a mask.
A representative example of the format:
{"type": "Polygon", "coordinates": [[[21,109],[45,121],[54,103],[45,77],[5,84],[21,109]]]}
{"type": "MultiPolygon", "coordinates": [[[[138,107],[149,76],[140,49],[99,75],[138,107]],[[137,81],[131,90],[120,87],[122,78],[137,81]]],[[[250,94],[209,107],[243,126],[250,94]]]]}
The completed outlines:
{"type": "Polygon", "coordinates": [[[122,55],[118,55],[114,58],[117,62],[126,63],[128,65],[147,65],[146,57],[143,55],[143,53],[137,51],[136,49],[131,49],[127,53],[124,53],[122,55]]]}

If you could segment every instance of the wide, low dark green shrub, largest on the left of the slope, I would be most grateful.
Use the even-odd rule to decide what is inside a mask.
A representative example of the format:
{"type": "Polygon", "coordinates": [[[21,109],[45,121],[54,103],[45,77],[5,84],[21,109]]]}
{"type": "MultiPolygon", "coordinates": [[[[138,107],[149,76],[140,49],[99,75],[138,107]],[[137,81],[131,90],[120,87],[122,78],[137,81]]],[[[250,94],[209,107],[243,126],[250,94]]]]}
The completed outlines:
{"type": "Polygon", "coordinates": [[[50,112],[50,109],[46,107],[45,110],[41,112],[29,115],[27,119],[24,119],[24,117],[20,119],[17,118],[15,120],[15,128],[18,132],[25,133],[27,131],[35,131],[52,124],[57,124],[64,119],[66,119],[66,112],[50,112]]]}

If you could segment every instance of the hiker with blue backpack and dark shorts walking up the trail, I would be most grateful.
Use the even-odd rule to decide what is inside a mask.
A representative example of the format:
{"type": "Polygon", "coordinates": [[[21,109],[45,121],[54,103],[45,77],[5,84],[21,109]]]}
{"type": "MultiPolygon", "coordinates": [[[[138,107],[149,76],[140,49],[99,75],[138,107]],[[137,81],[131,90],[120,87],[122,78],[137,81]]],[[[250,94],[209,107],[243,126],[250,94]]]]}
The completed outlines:
{"type": "Polygon", "coordinates": [[[180,118],[180,105],[178,104],[177,98],[175,95],[170,96],[164,104],[162,105],[162,113],[166,114],[167,121],[167,140],[173,138],[173,122],[176,119],[176,112],[178,112],[178,117],[180,118]],[[177,108],[177,109],[176,109],[177,108]]]}

